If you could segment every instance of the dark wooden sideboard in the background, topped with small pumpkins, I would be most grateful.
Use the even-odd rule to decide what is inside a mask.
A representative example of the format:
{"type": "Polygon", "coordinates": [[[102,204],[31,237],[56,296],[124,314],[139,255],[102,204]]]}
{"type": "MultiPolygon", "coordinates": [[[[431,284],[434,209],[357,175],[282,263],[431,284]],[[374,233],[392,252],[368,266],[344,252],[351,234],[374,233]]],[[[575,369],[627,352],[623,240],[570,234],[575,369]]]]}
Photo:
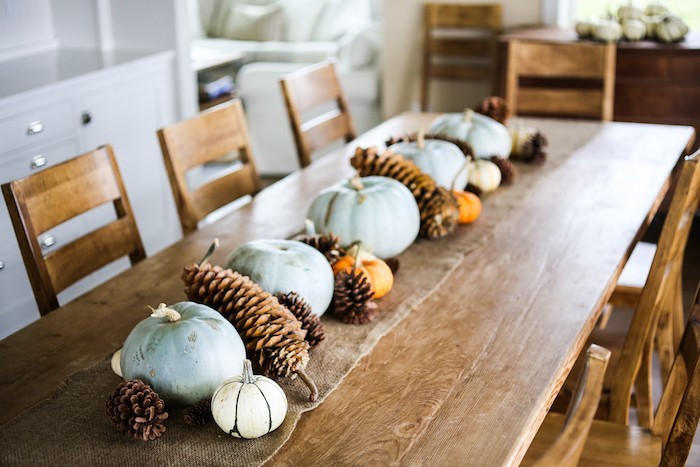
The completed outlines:
{"type": "MultiPolygon", "coordinates": [[[[579,40],[573,30],[559,28],[515,29],[502,34],[498,81],[501,95],[505,91],[507,44],[511,39],[579,40]]],[[[678,44],[651,41],[617,44],[613,119],[690,125],[700,133],[700,31],[691,31],[678,44]]]]}

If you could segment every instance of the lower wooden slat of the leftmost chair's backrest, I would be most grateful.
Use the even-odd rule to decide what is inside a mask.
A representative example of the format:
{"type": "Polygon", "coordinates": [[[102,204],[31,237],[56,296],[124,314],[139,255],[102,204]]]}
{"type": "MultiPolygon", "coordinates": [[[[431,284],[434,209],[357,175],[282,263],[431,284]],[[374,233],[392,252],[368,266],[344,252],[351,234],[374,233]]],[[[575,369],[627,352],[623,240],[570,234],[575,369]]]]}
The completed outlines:
{"type": "Polygon", "coordinates": [[[47,255],[46,269],[56,293],[136,250],[133,228],[132,220],[123,217],[47,255]]]}

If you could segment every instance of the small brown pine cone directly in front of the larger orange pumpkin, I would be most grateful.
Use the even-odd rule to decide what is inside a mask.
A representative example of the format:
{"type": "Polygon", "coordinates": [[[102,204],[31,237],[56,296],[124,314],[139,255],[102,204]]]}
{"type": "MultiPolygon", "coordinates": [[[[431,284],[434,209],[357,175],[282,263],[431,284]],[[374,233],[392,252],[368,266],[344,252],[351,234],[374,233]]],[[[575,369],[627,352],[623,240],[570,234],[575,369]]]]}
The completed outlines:
{"type": "Polygon", "coordinates": [[[344,323],[365,324],[377,314],[374,292],[367,277],[359,270],[340,271],[335,276],[333,312],[344,323]]]}

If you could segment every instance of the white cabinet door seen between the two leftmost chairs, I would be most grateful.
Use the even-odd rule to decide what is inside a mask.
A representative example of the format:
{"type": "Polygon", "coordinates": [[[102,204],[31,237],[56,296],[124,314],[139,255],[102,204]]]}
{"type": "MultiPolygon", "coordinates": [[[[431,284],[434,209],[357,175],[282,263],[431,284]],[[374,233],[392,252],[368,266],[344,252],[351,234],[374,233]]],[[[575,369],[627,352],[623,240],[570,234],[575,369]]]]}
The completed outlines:
{"type": "Polygon", "coordinates": [[[83,149],[111,144],[147,255],[181,237],[180,226],[156,131],[168,86],[163,77],[140,76],[86,93],[81,100],[90,123],[81,131],[83,149]]]}

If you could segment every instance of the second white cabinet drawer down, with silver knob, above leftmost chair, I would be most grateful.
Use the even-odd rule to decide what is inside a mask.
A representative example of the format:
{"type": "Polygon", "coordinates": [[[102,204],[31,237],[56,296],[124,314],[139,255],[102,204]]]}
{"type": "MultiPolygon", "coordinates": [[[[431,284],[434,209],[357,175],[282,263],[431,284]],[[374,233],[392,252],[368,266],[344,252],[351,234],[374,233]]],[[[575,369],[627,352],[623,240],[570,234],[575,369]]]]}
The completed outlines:
{"type": "Polygon", "coordinates": [[[0,159],[0,183],[26,177],[78,155],[78,142],[64,140],[0,159]]]}

